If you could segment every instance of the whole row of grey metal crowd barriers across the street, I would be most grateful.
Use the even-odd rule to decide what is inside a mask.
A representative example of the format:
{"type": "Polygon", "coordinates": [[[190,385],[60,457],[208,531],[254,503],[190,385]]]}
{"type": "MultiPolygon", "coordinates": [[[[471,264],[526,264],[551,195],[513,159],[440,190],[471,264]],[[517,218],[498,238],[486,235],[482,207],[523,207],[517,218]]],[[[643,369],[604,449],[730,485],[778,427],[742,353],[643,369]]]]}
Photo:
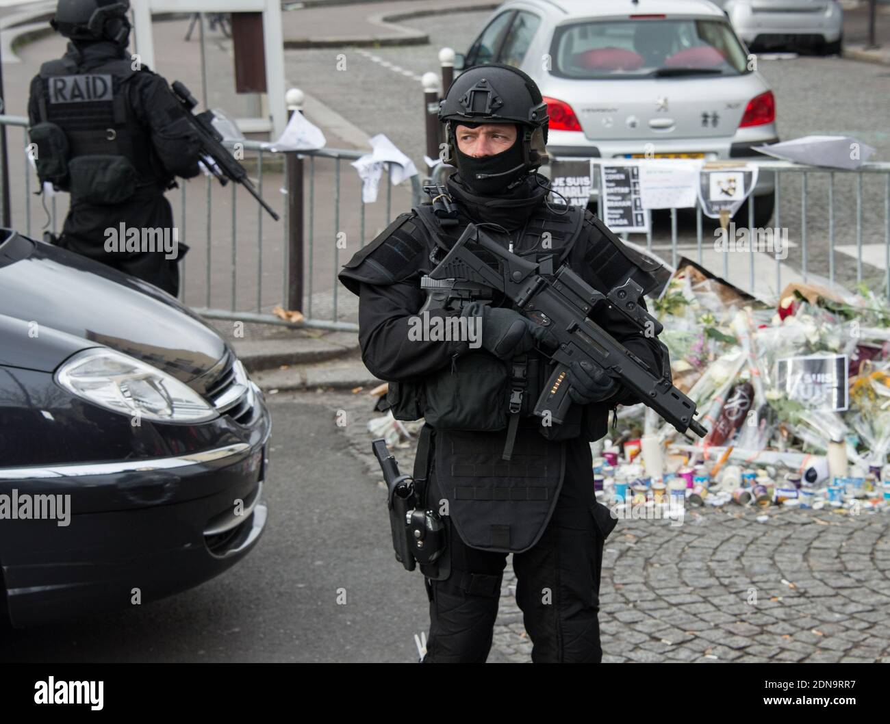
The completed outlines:
{"type": "MultiPolygon", "coordinates": [[[[22,127],[25,142],[20,148],[24,149],[27,119],[0,116],[0,124],[22,127]]],[[[11,143],[10,149],[15,148],[11,143]]],[[[358,174],[350,167],[347,173],[352,181],[344,181],[343,169],[344,161],[351,162],[364,155],[364,151],[273,153],[259,141],[243,141],[242,148],[247,152],[245,163],[255,164],[252,175],[258,189],[273,207],[283,211],[283,222],[275,224],[264,219],[262,209],[252,206],[253,199],[239,192],[236,184],[223,189],[207,178],[201,189],[199,180],[180,181],[178,194],[171,194],[170,198],[180,238],[190,246],[181,265],[183,302],[208,318],[291,325],[271,314],[271,308],[280,305],[303,312],[305,318],[297,326],[355,331],[357,301],[352,295],[344,297],[338,290],[336,273],[343,261],[376,235],[376,230],[392,221],[393,204],[401,211],[419,203],[417,177],[411,179],[410,191],[404,185],[393,189],[388,175],[383,177],[385,193],[380,190],[384,203],[378,200],[366,205],[361,201],[358,174]],[[278,159],[288,156],[297,160],[298,173],[284,173],[289,164],[279,168],[278,159]],[[280,194],[276,195],[277,191],[280,194]],[[241,204],[247,205],[247,213],[239,214],[241,204]],[[205,243],[199,245],[196,240],[202,237],[205,243]]],[[[14,158],[14,152],[11,156],[14,158]]],[[[25,153],[22,158],[24,182],[20,202],[24,220],[13,215],[13,224],[33,236],[34,172],[25,153]]],[[[595,166],[619,162],[607,158],[590,160],[595,166]]],[[[754,245],[744,260],[747,264],[740,263],[741,256],[731,260],[729,253],[716,252],[714,245],[705,240],[706,225],[713,226],[716,221],[705,221],[700,205],[694,210],[667,211],[669,235],[662,230],[650,230],[645,235],[646,250],[662,255],[674,267],[681,254],[693,258],[694,253],[695,261],[718,274],[722,267],[724,278],[754,294],[778,294],[783,278],[824,278],[829,285],[880,283],[890,298],[890,164],[866,163],[856,171],[841,171],[773,159],[748,163],[756,163],[762,173],[774,174],[773,227],[782,229],[785,222],[790,232],[791,224],[799,221],[787,258],[780,258],[778,253],[758,252],[754,245]],[[822,204],[827,206],[827,214],[810,213],[813,206],[822,204]],[[694,231],[688,228],[693,215],[694,231]],[[748,277],[747,282],[740,279],[744,276],[748,277]]],[[[433,177],[442,170],[437,167],[433,177]]],[[[389,171],[387,168],[387,174],[389,171]]],[[[599,205],[599,174],[593,175],[599,205]]],[[[15,177],[12,169],[11,177],[15,177]]],[[[15,187],[11,190],[15,191],[15,187]]],[[[755,199],[748,204],[747,220],[733,221],[737,225],[747,222],[748,229],[755,229],[757,203],[755,199]]],[[[16,208],[15,201],[12,208],[16,208]]],[[[50,200],[46,213],[53,231],[59,228],[66,209],[67,197],[50,200]]],[[[627,238],[634,242],[633,235],[627,238]]],[[[643,247],[642,243],[639,245],[643,247]]]]}

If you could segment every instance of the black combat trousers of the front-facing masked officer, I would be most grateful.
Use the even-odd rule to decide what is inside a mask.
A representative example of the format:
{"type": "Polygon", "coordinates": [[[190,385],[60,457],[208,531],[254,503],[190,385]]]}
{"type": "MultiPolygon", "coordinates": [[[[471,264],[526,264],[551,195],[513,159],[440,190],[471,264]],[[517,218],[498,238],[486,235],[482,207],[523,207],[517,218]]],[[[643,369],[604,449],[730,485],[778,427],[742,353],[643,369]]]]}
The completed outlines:
{"type": "MultiPolygon", "coordinates": [[[[428,505],[442,497],[435,471],[428,505]]],[[[451,575],[425,578],[430,633],[424,663],[484,663],[489,655],[506,553],[470,548],[449,526],[451,575]]],[[[596,503],[590,446],[566,443],[565,478],[553,517],[528,551],[514,553],[516,602],[535,663],[600,663],[599,613],[603,543],[614,527],[596,503]]]]}

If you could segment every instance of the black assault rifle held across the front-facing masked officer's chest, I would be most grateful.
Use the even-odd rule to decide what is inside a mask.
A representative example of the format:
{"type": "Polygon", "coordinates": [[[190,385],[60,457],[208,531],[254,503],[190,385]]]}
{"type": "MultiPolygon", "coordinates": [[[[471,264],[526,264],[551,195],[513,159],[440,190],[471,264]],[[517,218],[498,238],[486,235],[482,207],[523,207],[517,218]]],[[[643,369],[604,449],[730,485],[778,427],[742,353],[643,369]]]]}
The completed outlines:
{"type": "MultiPolygon", "coordinates": [[[[474,300],[490,301],[492,294],[488,290],[497,290],[514,302],[522,315],[554,334],[559,347],[554,351],[541,350],[556,366],[535,405],[534,412],[539,417],[549,416],[555,424],[565,421],[571,404],[570,383],[565,379],[569,365],[587,360],[633,390],[644,405],[679,432],[689,429],[702,438],[708,433],[694,419],[695,404],[673,385],[667,365],[663,374],[656,374],[589,316],[601,304],[611,305],[642,334],[652,338],[660,334],[659,321],[636,302],[643,288],[632,279],[609,294],[602,294],[567,265],[552,274],[552,261],[537,264],[522,259],[483,229],[469,224],[439,265],[421,279],[420,286],[428,294],[424,309],[460,309],[474,300]],[[497,264],[490,265],[491,259],[487,262],[468,248],[470,242],[493,255],[497,264]]],[[[667,348],[663,342],[656,342],[667,360],[667,348]]]]}

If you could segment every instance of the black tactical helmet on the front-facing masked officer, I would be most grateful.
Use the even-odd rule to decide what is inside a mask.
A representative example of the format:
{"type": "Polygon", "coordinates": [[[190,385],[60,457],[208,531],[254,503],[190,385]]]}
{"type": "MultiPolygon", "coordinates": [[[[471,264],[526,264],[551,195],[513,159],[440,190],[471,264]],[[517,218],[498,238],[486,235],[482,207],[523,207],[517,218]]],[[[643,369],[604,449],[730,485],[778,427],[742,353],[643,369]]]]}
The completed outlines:
{"type": "Polygon", "coordinates": [[[439,103],[447,123],[446,164],[454,163],[457,125],[514,123],[522,129],[523,161],[528,171],[546,164],[547,104],[538,85],[519,68],[500,63],[474,66],[461,73],[439,103]]]}

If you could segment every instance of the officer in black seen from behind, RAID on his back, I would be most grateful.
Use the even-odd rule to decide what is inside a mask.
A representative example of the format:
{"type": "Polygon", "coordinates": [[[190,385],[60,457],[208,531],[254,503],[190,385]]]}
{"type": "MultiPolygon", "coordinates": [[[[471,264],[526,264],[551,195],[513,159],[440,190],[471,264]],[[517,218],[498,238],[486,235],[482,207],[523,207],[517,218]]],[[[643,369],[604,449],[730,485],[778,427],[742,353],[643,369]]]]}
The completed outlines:
{"type": "Polygon", "coordinates": [[[59,0],[51,25],[68,52],[31,81],[29,134],[40,180],[70,193],[58,244],[176,295],[188,247],[134,249],[119,235],[176,238],[164,191],[200,173],[200,147],[166,80],[127,52],[128,10],[127,0],[59,0]]]}

